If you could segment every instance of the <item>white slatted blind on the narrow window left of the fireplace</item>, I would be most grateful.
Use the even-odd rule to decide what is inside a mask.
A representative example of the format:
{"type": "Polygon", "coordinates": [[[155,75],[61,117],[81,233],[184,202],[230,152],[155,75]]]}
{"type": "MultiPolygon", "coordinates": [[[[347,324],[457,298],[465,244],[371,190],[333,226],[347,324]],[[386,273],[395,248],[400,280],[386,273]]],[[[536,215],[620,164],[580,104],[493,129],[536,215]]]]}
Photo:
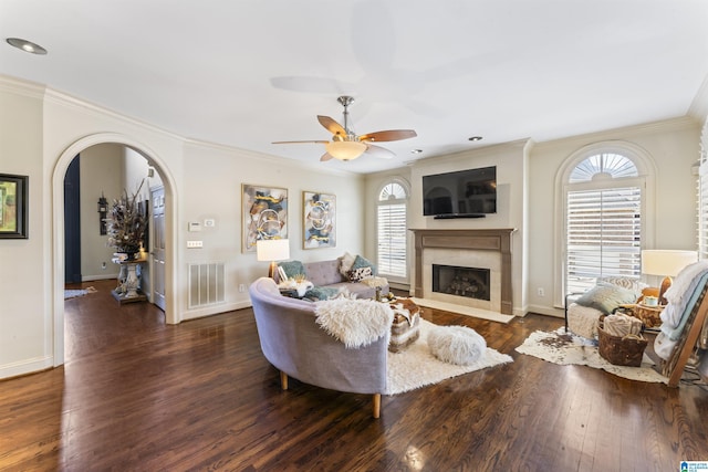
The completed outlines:
{"type": "Polygon", "coordinates": [[[406,204],[382,203],[378,206],[378,273],[406,277],[406,204]]]}

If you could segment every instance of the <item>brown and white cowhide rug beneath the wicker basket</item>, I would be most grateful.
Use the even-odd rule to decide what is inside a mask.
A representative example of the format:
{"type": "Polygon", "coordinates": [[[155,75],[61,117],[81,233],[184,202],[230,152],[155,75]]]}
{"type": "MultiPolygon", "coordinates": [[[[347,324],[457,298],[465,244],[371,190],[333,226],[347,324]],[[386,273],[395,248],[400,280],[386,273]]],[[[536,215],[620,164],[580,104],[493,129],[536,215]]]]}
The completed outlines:
{"type": "Polygon", "coordinates": [[[646,354],[639,367],[615,366],[600,356],[595,342],[572,333],[566,334],[564,327],[552,333],[531,333],[523,344],[517,347],[517,352],[562,366],[580,365],[603,369],[631,380],[668,382],[666,377],[654,370],[654,363],[646,354]]]}

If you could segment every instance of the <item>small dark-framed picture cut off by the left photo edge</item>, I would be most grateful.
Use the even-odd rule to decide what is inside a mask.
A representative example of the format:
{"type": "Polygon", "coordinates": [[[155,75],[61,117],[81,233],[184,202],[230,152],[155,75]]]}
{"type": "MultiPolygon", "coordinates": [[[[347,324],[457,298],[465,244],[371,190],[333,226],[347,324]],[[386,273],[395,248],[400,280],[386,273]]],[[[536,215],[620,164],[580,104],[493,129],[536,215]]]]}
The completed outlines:
{"type": "Polygon", "coordinates": [[[27,239],[28,177],[0,174],[0,239],[27,239]]]}

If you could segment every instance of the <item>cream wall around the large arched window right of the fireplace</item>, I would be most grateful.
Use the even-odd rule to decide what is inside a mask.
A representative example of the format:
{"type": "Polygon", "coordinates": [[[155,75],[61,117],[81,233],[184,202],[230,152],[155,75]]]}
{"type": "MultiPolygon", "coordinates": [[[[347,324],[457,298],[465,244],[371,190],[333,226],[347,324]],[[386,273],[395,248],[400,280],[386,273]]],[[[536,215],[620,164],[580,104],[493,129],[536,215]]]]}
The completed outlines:
{"type": "Polygon", "coordinates": [[[563,164],[585,146],[621,140],[638,146],[653,159],[657,175],[655,204],[647,218],[656,221],[646,249],[696,249],[696,180],[691,166],[698,158],[699,125],[690,118],[607,130],[537,144],[529,165],[529,310],[562,316],[554,301],[562,297],[554,282],[554,255],[559,240],[554,182],[563,164]],[[538,295],[544,289],[545,296],[538,295]]]}

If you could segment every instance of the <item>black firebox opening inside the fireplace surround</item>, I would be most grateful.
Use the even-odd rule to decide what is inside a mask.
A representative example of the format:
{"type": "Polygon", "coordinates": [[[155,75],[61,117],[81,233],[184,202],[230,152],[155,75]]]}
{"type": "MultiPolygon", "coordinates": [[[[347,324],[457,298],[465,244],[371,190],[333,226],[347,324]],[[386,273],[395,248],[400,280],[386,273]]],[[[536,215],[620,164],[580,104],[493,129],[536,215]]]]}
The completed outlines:
{"type": "Polygon", "coordinates": [[[433,292],[489,301],[489,269],[433,264],[433,292]]]}

